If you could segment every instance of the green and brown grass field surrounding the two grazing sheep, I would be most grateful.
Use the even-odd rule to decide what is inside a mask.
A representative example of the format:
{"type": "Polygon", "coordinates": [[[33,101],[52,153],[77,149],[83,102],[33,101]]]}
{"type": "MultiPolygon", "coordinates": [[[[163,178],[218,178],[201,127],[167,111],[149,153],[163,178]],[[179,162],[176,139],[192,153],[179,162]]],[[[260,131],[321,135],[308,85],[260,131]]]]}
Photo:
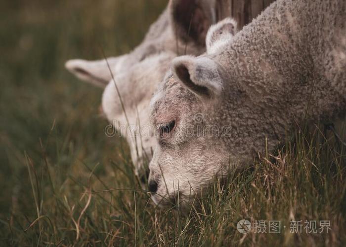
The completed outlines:
{"type": "Polygon", "coordinates": [[[129,52],[166,3],[0,4],[0,246],[345,246],[346,147],[323,126],[211,184],[189,212],[141,190],[126,141],[104,135],[102,91],[64,62],[129,52]],[[281,233],[241,234],[241,219],[278,220],[281,233]],[[305,220],[331,229],[306,234],[305,220]]]}

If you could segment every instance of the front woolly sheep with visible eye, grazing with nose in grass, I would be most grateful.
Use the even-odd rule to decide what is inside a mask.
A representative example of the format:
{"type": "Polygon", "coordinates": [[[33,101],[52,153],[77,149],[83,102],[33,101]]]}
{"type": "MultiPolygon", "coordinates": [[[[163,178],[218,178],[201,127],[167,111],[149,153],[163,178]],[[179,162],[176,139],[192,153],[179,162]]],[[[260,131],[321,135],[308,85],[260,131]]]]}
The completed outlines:
{"type": "Polygon", "coordinates": [[[345,117],[345,24],[345,0],[277,0],[216,49],[175,58],[151,102],[154,202],[193,198],[297,124],[345,117]]]}

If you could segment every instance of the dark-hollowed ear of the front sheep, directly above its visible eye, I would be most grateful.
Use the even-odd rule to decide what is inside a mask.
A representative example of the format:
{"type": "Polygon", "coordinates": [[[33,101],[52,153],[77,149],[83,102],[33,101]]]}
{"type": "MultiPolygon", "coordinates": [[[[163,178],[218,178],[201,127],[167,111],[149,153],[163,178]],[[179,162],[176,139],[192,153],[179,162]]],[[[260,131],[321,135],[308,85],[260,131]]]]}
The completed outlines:
{"type": "Polygon", "coordinates": [[[173,60],[172,70],[182,85],[198,96],[213,98],[223,90],[217,65],[209,58],[177,57],[173,60]]]}

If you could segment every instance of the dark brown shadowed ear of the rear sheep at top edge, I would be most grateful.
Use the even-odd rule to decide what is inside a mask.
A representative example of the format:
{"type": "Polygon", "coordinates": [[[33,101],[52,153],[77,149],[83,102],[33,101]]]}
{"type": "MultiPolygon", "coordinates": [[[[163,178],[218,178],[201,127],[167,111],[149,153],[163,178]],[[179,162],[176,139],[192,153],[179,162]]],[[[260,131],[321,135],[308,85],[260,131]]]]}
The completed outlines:
{"type": "Polygon", "coordinates": [[[171,0],[170,11],[178,38],[204,46],[208,28],[216,23],[216,0],[171,0]]]}

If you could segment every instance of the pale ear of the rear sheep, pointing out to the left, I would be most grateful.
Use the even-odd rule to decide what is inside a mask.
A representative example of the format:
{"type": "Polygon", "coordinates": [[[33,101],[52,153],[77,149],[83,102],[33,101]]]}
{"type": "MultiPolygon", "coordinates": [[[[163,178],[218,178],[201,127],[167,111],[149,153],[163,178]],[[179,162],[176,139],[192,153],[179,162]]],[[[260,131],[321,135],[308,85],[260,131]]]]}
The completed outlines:
{"type": "MultiPolygon", "coordinates": [[[[119,58],[107,58],[107,61],[110,68],[113,70],[113,68],[115,68],[117,62],[119,61],[119,58]]],[[[65,63],[65,67],[79,79],[90,82],[95,86],[104,88],[112,79],[107,61],[105,59],[97,61],[73,59],[67,61],[65,63]]]]}

